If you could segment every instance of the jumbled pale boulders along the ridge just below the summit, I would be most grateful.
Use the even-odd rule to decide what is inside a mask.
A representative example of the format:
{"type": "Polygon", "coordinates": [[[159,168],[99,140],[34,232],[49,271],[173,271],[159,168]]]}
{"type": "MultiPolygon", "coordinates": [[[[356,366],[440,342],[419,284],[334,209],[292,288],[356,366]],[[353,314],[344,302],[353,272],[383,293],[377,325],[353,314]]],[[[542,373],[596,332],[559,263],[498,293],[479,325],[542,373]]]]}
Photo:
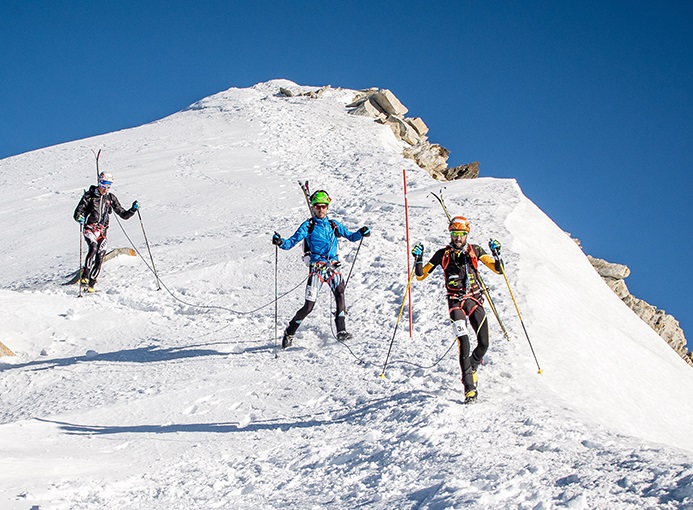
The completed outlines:
{"type": "Polygon", "coordinates": [[[428,126],[419,117],[408,118],[409,111],[395,95],[387,89],[367,89],[356,94],[347,105],[349,113],[370,117],[388,126],[398,140],[408,146],[404,148],[405,158],[413,159],[439,181],[455,179],[475,179],[479,176],[479,163],[469,163],[455,168],[448,167],[448,151],[445,147],[428,141],[428,126]]]}

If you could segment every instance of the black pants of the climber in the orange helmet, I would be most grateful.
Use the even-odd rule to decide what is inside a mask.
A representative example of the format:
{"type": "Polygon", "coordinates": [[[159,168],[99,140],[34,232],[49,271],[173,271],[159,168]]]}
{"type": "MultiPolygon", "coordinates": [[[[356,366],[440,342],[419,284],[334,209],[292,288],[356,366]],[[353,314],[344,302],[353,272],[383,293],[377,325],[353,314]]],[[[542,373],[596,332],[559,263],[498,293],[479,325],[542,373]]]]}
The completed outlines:
{"type": "Polygon", "coordinates": [[[453,321],[453,324],[456,321],[464,321],[465,317],[467,317],[469,325],[476,335],[477,343],[471,356],[469,332],[465,331],[457,336],[462,383],[465,391],[473,390],[476,388],[473,372],[476,371],[483,361],[489,345],[486,311],[481,301],[473,297],[457,298],[450,296],[448,297],[448,308],[450,310],[450,320],[453,321]]]}

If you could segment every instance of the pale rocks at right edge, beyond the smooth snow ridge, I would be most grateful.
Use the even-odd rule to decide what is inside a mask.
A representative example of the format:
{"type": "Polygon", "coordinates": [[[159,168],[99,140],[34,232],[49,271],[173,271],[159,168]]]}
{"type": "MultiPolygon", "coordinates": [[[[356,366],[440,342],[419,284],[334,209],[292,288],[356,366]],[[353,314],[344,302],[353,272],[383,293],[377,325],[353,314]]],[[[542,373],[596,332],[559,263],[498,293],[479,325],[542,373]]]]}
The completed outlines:
{"type": "Polygon", "coordinates": [[[613,290],[638,317],[655,330],[679,356],[686,360],[689,365],[693,366],[693,352],[689,351],[686,347],[686,337],[683,334],[679,322],[664,310],[657,309],[657,307],[642,299],[636,298],[629,292],[624,279],[630,275],[630,269],[623,264],[613,264],[589,255],[587,255],[587,258],[592,264],[592,267],[597,270],[599,276],[602,277],[611,290],[613,290]]]}

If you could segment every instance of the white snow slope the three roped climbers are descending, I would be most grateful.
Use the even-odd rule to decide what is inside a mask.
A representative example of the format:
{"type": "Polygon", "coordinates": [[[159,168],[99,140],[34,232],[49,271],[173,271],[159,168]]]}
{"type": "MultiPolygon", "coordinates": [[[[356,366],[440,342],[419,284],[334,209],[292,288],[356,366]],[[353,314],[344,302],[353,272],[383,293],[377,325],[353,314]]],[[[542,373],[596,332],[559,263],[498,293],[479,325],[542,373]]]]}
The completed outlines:
{"type": "MultiPolygon", "coordinates": [[[[503,242],[537,365],[501,276],[480,401],[462,388],[440,272],[406,286],[402,169],[412,236],[446,243],[430,192],[389,128],[350,116],[348,90],[229,89],[135,129],[0,161],[0,507],[691,508],[693,371],[603,284],[513,180],[448,183],[471,240],[503,242]],[[137,216],[110,247],[100,292],[61,285],[78,266],[71,215],[92,150],[137,216]],[[330,216],[373,235],[342,240],[348,329],[323,289],[295,346],[275,344],[275,230],[330,216]],[[151,243],[151,265],[143,231],[151,243]],[[452,350],[451,350],[452,348],[452,350]]],[[[566,191],[569,192],[569,191],[566,191]]],[[[121,228],[122,226],[122,228],[121,228]]],[[[278,253],[279,334],[303,302],[298,249],[278,253]]]]}

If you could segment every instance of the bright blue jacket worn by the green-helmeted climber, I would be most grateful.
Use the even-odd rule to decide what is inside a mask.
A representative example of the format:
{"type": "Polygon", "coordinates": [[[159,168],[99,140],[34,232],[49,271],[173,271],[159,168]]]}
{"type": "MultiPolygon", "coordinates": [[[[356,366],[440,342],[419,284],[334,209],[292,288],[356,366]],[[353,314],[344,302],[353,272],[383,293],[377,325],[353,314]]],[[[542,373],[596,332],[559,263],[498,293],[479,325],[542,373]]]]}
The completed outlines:
{"type": "Polygon", "coordinates": [[[344,225],[336,220],[330,220],[329,218],[319,219],[307,219],[298,227],[294,235],[288,239],[284,239],[279,247],[282,250],[290,250],[297,243],[306,239],[308,241],[308,247],[310,248],[310,261],[312,262],[330,262],[334,260],[339,260],[337,255],[337,237],[344,237],[351,242],[360,241],[363,237],[360,232],[351,232],[344,225]],[[309,234],[308,227],[310,222],[314,221],[315,226],[313,231],[309,234]],[[334,223],[337,231],[335,235],[335,229],[332,228],[330,221],[334,223]]]}

